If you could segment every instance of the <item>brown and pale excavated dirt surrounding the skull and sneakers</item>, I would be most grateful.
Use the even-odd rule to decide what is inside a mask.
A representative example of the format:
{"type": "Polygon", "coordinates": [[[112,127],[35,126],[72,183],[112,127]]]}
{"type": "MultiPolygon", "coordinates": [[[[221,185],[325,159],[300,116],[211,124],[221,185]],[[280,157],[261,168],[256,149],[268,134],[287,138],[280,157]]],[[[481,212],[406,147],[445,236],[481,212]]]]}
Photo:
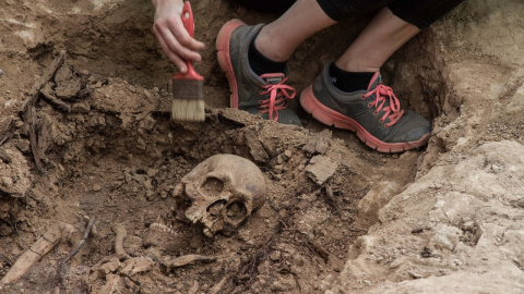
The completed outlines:
{"type": "MultiPolygon", "coordinates": [[[[175,69],[148,1],[0,4],[0,277],[50,246],[1,293],[524,291],[519,1],[468,0],[388,61],[403,106],[433,121],[427,148],[397,155],[320,125],[297,101],[303,127],[227,108],[218,29],[276,15],[192,1],[207,108],[191,124],[169,119],[175,69]],[[221,154],[254,162],[267,195],[239,230],[207,236],[177,185],[221,154]]],[[[290,84],[306,87],[368,20],[307,40],[290,84]]]]}

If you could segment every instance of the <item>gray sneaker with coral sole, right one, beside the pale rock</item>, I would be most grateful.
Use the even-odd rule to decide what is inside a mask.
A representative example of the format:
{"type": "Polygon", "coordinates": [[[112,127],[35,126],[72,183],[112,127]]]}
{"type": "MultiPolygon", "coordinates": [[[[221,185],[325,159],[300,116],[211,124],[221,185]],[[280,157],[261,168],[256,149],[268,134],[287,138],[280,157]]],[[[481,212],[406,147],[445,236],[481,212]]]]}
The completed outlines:
{"type": "Polygon", "coordinates": [[[420,114],[401,109],[393,90],[382,85],[377,72],[367,90],[344,93],[324,66],[313,85],[300,94],[300,105],[326,125],[350,130],[369,147],[380,152],[401,152],[428,143],[431,123],[420,114]]]}

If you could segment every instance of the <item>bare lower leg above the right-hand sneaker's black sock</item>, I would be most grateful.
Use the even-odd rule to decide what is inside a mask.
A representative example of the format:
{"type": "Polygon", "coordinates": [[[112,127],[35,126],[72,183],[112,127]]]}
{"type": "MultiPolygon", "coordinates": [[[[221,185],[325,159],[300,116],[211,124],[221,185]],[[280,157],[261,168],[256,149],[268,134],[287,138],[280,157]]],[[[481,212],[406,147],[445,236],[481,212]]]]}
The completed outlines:
{"type": "Polygon", "coordinates": [[[347,72],[378,72],[382,64],[420,29],[383,8],[335,61],[347,72]]]}

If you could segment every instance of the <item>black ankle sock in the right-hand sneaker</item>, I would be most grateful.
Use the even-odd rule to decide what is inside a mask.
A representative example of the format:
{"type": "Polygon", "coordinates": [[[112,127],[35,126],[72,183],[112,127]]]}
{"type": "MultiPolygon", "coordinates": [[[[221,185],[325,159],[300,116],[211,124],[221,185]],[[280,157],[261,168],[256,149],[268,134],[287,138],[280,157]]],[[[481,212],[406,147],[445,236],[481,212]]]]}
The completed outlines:
{"type": "Polygon", "coordinates": [[[330,79],[342,91],[356,91],[368,89],[369,82],[374,73],[353,73],[338,69],[335,63],[330,66],[330,79]]]}

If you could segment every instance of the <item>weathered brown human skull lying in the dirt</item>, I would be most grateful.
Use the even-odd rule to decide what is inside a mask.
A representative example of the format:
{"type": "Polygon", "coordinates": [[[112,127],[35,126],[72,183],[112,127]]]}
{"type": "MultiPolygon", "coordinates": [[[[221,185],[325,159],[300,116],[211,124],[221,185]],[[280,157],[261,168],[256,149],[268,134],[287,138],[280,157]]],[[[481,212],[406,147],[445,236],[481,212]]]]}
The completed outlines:
{"type": "Polygon", "coordinates": [[[265,201],[265,180],[251,161],[234,155],[215,155],[182,177],[174,196],[187,196],[186,217],[204,225],[204,234],[235,233],[265,201]]]}

